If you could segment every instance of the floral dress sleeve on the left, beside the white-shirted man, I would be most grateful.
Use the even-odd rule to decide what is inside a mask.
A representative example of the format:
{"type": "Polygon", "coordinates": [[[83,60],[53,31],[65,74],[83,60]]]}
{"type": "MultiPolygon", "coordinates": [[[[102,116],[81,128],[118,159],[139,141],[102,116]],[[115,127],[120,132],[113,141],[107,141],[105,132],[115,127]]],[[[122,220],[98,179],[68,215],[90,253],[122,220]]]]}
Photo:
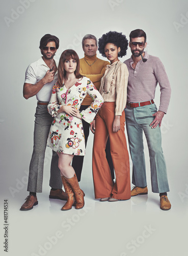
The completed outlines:
{"type": "Polygon", "coordinates": [[[52,88],[49,104],[47,105],[48,113],[52,117],[56,117],[59,114],[58,110],[61,108],[61,104],[59,104],[59,100],[58,100],[58,97],[57,97],[57,90],[58,89],[59,89],[59,86],[56,82],[55,85],[52,88]]]}

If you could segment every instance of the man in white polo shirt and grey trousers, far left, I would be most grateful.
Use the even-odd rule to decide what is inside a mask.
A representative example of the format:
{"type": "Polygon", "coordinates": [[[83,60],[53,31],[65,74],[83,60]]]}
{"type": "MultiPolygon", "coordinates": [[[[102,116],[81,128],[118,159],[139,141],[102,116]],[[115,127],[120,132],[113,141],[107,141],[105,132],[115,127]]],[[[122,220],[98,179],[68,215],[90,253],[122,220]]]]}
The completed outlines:
{"type": "MultiPolygon", "coordinates": [[[[42,192],[43,166],[46,150],[46,141],[53,118],[47,111],[47,104],[51,90],[57,81],[58,62],[53,59],[59,48],[59,39],[50,34],[44,35],[40,40],[40,50],[43,55],[39,60],[29,65],[25,72],[23,97],[29,99],[36,95],[38,103],[35,113],[34,146],[30,162],[28,191],[30,195],[20,210],[31,210],[38,204],[36,193],[42,192]]],[[[52,152],[49,198],[67,200],[67,195],[62,190],[60,169],[58,168],[58,155],[52,152]]]]}

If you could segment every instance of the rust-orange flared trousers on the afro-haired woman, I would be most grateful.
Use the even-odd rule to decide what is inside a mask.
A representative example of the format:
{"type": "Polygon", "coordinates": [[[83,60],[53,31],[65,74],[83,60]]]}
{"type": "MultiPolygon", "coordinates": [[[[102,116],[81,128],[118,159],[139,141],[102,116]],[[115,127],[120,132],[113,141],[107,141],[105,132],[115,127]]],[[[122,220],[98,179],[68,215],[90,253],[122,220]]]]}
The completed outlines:
{"type": "Polygon", "coordinates": [[[125,113],[120,117],[120,130],[113,132],[115,102],[104,102],[95,119],[93,142],[93,181],[95,198],[130,199],[130,167],[125,138],[125,113]],[[106,141],[110,137],[111,155],[116,182],[113,185],[110,167],[105,156],[106,141]]]}

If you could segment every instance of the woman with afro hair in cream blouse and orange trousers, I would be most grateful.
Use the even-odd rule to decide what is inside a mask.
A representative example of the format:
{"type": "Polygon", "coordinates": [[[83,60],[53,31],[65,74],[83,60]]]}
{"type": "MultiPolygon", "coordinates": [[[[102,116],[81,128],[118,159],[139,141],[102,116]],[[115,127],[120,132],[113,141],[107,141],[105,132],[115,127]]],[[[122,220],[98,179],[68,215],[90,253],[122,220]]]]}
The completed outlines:
{"type": "Polygon", "coordinates": [[[127,98],[127,66],[119,60],[126,55],[128,40],[116,31],[103,34],[98,50],[111,62],[101,79],[100,94],[104,99],[95,120],[91,123],[94,133],[93,181],[95,198],[100,201],[130,199],[129,156],[125,138],[125,113],[127,98]],[[106,141],[110,137],[111,155],[116,182],[113,184],[105,156],[106,141]]]}

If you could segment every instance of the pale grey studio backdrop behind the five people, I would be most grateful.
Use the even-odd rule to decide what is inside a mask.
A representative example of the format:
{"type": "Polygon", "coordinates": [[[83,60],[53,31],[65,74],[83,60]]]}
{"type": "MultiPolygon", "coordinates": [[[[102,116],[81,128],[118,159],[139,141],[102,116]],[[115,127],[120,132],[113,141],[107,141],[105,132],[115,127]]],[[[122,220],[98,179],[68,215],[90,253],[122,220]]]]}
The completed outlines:
{"type": "MultiPolygon", "coordinates": [[[[1,4],[1,209],[4,199],[9,199],[12,205],[9,215],[12,216],[28,194],[26,182],[37,101],[35,96],[25,100],[22,88],[26,68],[41,56],[40,38],[46,33],[59,37],[56,58],[65,49],[74,49],[82,58],[85,34],[99,38],[112,30],[122,32],[128,38],[131,30],[141,28],[147,34],[147,51],[162,60],[172,87],[168,113],[162,123],[163,150],[170,188],[174,197],[182,202],[181,210],[187,213],[187,0],[1,0],[1,4]]],[[[97,55],[102,58],[98,52],[97,55]]],[[[127,56],[120,60],[124,61],[130,55],[128,48],[127,56]]],[[[157,88],[157,106],[159,93],[157,88]]],[[[92,139],[90,136],[84,165],[84,179],[89,179],[91,184],[92,139]]],[[[51,151],[47,148],[44,165],[46,193],[49,191],[50,156],[51,151]]],[[[1,220],[3,224],[3,210],[1,220]]],[[[26,219],[23,225],[25,223],[26,219]]],[[[3,231],[0,231],[2,236],[3,231]]],[[[12,230],[12,240],[15,236],[16,232],[12,230]]],[[[20,234],[20,239],[24,236],[20,234]]]]}

